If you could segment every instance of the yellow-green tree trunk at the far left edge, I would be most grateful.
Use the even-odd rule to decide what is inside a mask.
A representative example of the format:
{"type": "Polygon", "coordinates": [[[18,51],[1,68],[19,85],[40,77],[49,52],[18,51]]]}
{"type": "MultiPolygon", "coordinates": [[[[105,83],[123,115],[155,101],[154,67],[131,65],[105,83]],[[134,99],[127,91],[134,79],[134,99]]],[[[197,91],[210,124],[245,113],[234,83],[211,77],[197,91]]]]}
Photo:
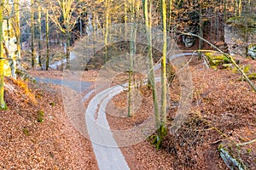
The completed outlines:
{"type": "Polygon", "coordinates": [[[3,3],[0,3],[0,110],[6,108],[3,95],[4,95],[4,76],[3,76],[3,3]]]}

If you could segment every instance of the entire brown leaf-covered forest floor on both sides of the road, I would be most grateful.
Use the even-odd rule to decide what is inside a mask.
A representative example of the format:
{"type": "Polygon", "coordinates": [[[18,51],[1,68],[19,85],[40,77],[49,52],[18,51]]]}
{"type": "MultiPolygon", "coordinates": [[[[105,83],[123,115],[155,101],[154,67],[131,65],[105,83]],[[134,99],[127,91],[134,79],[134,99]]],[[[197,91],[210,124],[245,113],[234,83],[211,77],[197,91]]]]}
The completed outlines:
{"type": "MultiPolygon", "coordinates": [[[[218,152],[218,147],[223,147],[249,169],[255,169],[256,142],[245,144],[256,139],[256,95],[252,88],[240,81],[240,74],[234,71],[206,69],[198,59],[192,59],[189,65],[194,90],[186,121],[177,133],[168,130],[160,150],[155,149],[150,139],[122,147],[129,167],[228,169],[218,152]]],[[[240,65],[251,65],[255,71],[256,61],[241,59],[240,65]]],[[[36,70],[29,73],[33,77],[56,79],[63,74],[36,70]]],[[[97,71],[84,71],[80,78],[95,82],[96,76],[97,71]]],[[[118,78],[121,83],[127,77],[118,78]]],[[[5,82],[9,111],[0,112],[0,169],[97,169],[90,140],[73,127],[65,114],[59,86],[29,83],[26,89],[23,82],[10,78],[5,82]]],[[[176,77],[169,87],[168,129],[179,106],[179,89],[176,77]]],[[[153,114],[150,90],[140,87],[139,91],[143,94],[143,105],[134,116],[113,116],[119,114],[114,110],[107,114],[111,129],[137,126],[153,114]]],[[[125,108],[126,97],[126,92],[121,93],[112,103],[125,108]]]]}

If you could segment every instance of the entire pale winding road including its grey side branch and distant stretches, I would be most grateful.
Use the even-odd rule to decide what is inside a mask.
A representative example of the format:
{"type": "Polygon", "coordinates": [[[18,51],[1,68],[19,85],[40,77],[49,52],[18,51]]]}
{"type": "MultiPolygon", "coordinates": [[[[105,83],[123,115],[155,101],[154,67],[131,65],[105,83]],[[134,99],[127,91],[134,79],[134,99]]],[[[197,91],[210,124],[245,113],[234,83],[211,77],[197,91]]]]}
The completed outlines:
{"type": "MultiPolygon", "coordinates": [[[[169,60],[176,59],[188,55],[197,55],[196,53],[182,53],[174,54],[169,60]]],[[[63,61],[62,61],[63,62],[63,61]]],[[[62,63],[61,62],[61,63],[62,63]]],[[[55,65],[53,65],[54,67],[55,65]]],[[[159,69],[160,65],[155,65],[154,69],[159,69]]],[[[68,82],[63,84],[63,80],[50,79],[50,78],[36,78],[37,82],[53,83],[56,85],[65,85],[67,88],[72,88],[80,94],[84,91],[88,91],[91,86],[90,82],[68,82]]],[[[85,111],[85,122],[87,131],[89,133],[90,141],[96,156],[98,167],[101,170],[112,170],[112,169],[130,169],[125,156],[123,156],[119,145],[113,138],[113,133],[108,125],[106,116],[106,107],[110,99],[114,95],[121,93],[125,89],[124,86],[114,86],[102,90],[102,92],[96,94],[90,99],[89,105],[85,111]],[[101,108],[101,109],[100,109],[101,108]]],[[[89,100],[90,96],[94,94],[95,90],[90,90],[81,99],[81,102],[89,100]]]]}

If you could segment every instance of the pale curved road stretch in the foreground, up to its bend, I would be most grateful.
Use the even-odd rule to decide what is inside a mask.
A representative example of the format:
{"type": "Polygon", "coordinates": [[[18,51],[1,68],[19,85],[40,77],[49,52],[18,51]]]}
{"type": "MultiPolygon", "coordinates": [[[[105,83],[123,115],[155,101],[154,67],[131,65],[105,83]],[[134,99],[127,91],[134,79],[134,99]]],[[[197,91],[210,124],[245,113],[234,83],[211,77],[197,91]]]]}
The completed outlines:
{"type": "Polygon", "coordinates": [[[113,139],[113,133],[105,113],[109,100],[123,90],[123,87],[116,86],[96,94],[90,100],[85,112],[87,130],[100,169],[130,169],[121,150],[119,150],[118,144],[113,139]],[[114,94],[111,93],[113,91],[114,94]],[[96,116],[96,114],[98,115],[96,116]]]}

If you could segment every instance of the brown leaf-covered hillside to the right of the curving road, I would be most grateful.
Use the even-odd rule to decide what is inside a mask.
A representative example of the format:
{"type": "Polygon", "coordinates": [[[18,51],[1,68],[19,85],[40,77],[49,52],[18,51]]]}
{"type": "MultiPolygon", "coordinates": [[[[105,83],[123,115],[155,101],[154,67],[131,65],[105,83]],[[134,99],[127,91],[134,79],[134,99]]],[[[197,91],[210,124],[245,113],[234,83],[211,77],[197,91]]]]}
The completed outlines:
{"type": "MultiPolygon", "coordinates": [[[[240,59],[240,65],[256,68],[255,60],[236,59],[240,59]]],[[[251,71],[255,71],[253,69],[251,71]]],[[[150,139],[121,148],[129,166],[132,169],[229,169],[218,152],[224,148],[248,169],[256,169],[256,141],[246,144],[256,139],[256,95],[252,88],[239,80],[239,73],[206,69],[198,59],[190,62],[190,71],[194,83],[193,101],[183,126],[171,133],[180,99],[176,77],[169,87],[168,134],[160,150],[155,150],[150,139]]],[[[138,126],[153,114],[151,92],[146,87],[139,90],[143,101],[134,116],[120,118],[113,109],[107,114],[112,129],[138,126]]],[[[127,92],[115,96],[113,104],[125,109],[127,92]]]]}

